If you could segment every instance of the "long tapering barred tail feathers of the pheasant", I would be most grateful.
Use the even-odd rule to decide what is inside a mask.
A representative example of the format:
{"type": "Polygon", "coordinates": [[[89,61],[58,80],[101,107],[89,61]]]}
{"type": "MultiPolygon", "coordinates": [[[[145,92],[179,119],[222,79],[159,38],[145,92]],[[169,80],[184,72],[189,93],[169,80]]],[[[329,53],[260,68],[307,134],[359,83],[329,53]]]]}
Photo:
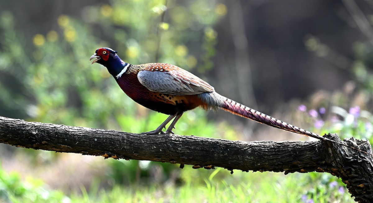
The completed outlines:
{"type": "MultiPolygon", "coordinates": [[[[280,121],[279,119],[276,119],[276,118],[273,118],[269,115],[263,114],[259,111],[256,111],[256,110],[252,109],[252,108],[246,107],[245,105],[239,104],[238,102],[235,102],[235,101],[233,101],[231,99],[228,99],[228,98],[225,98],[223,96],[222,96],[222,99],[223,99],[223,102],[220,104],[221,108],[225,111],[231,112],[232,114],[236,114],[236,115],[239,115],[241,117],[248,118],[248,119],[251,119],[251,120],[256,121],[256,122],[260,122],[261,124],[266,124],[266,125],[269,125],[269,126],[272,126],[272,127],[275,127],[275,128],[280,128],[282,130],[306,135],[306,136],[309,136],[309,137],[316,138],[318,140],[323,140],[323,141],[328,141],[328,142],[332,142],[332,143],[336,143],[336,144],[341,144],[341,145],[344,145],[346,147],[353,148],[355,150],[361,151],[363,153],[370,154],[370,153],[367,153],[366,151],[357,149],[357,148],[349,146],[347,144],[339,143],[339,142],[336,142],[334,140],[330,140],[326,137],[322,137],[320,135],[317,135],[313,132],[310,132],[310,131],[304,130],[302,128],[296,127],[294,125],[290,125],[286,122],[280,121]]],[[[373,154],[371,154],[371,155],[373,155],[373,154]]]]}

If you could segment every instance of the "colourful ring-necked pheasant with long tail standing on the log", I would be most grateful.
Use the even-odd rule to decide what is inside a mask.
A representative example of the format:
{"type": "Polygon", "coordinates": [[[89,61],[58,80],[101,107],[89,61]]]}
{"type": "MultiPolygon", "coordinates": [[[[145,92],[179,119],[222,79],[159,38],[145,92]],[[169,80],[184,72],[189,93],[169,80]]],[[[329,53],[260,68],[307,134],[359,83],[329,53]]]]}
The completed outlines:
{"type": "MultiPolygon", "coordinates": [[[[92,59],[94,60],[91,64],[97,62],[105,66],[123,92],[135,102],[146,108],[169,115],[156,130],[143,132],[144,134],[174,134],[172,130],[185,111],[202,107],[205,110],[213,109],[215,111],[223,109],[261,124],[354,148],[290,125],[228,99],[215,92],[213,86],[207,82],[178,66],[167,63],[131,65],[121,60],[117,52],[110,48],[97,49],[91,56],[90,60],[92,59]],[[173,121],[167,130],[163,132],[163,128],[166,129],[166,125],[172,119],[173,121]]],[[[357,148],[354,149],[362,151],[357,148]]]]}

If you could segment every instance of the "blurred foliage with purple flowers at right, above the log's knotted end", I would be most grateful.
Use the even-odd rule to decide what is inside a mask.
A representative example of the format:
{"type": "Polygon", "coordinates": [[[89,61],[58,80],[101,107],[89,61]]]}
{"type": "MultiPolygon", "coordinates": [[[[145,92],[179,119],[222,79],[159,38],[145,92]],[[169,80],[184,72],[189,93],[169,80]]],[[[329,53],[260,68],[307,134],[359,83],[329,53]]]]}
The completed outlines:
{"type": "Polygon", "coordinates": [[[341,90],[332,94],[319,91],[311,96],[311,109],[305,105],[298,107],[306,122],[312,122],[321,134],[337,133],[341,138],[354,137],[369,140],[373,143],[373,45],[366,42],[355,42],[352,49],[355,60],[333,50],[322,43],[316,36],[305,37],[305,46],[315,55],[328,60],[336,67],[345,69],[353,76],[341,90]],[[348,67],[351,65],[352,67],[348,67]]]}

